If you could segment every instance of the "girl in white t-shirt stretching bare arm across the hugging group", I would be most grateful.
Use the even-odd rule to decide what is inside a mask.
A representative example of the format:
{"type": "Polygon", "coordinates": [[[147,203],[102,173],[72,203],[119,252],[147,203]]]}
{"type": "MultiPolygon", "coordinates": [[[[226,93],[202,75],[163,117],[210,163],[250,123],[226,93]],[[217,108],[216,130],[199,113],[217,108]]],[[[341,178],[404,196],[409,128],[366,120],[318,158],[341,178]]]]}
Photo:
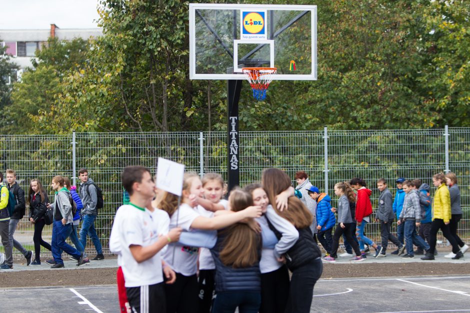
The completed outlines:
{"type": "MultiPolygon", "coordinates": [[[[203,194],[202,183],[196,173],[185,173],[181,195],[181,205],[177,207],[177,198],[166,193],[157,207],[170,216],[169,228],[181,227],[183,231],[191,229],[218,230],[235,224],[245,218],[261,215],[259,207],[247,207],[232,214],[207,218],[197,211],[196,199],[203,194]]],[[[198,247],[169,245],[163,253],[163,260],[176,273],[176,282],[165,285],[166,312],[186,313],[198,306],[197,284],[198,247]]]]}

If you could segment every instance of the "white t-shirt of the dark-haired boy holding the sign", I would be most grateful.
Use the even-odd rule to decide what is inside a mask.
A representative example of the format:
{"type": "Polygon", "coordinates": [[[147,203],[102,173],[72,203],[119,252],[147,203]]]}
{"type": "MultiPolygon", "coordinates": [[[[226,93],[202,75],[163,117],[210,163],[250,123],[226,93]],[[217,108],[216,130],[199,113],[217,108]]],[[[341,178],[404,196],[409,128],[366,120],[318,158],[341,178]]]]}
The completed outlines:
{"type": "Polygon", "coordinates": [[[117,253],[117,264],[122,268],[125,287],[139,287],[163,282],[160,252],[137,263],[129,246],[147,247],[158,239],[157,223],[152,212],[132,204],[122,205],[114,217],[109,238],[109,250],[117,253]]]}

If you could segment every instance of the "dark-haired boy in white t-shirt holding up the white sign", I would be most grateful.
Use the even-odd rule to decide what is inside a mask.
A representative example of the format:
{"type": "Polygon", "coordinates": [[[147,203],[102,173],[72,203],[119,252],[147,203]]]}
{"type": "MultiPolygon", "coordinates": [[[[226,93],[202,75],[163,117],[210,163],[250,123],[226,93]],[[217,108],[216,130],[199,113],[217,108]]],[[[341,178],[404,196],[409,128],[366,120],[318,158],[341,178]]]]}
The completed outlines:
{"type": "Polygon", "coordinates": [[[130,203],[117,210],[109,238],[109,250],[117,254],[125,280],[128,312],[165,313],[166,284],[175,282],[174,272],[162,261],[161,250],[178,240],[181,228],[175,227],[159,235],[158,223],[153,221],[150,205],[155,183],[148,169],[127,166],[121,182],[129,193],[130,203]]]}

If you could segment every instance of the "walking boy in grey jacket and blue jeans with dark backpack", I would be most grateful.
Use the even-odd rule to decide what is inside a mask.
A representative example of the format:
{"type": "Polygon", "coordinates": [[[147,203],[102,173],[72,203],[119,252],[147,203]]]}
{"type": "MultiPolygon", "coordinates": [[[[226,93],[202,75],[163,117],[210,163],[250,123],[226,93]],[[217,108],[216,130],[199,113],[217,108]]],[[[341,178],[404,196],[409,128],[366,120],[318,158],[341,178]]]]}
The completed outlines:
{"type": "Polygon", "coordinates": [[[88,177],[88,170],[82,168],[78,171],[78,178],[80,179],[80,199],[83,204],[81,216],[83,222],[81,223],[80,229],[80,242],[83,248],[86,248],[86,236],[89,235],[93,242],[94,248],[96,249],[96,257],[91,261],[104,260],[101,243],[99,242],[98,235],[96,234],[96,228],[94,222],[98,215],[96,204],[98,197],[96,193],[96,187],[91,178],[88,177]]]}

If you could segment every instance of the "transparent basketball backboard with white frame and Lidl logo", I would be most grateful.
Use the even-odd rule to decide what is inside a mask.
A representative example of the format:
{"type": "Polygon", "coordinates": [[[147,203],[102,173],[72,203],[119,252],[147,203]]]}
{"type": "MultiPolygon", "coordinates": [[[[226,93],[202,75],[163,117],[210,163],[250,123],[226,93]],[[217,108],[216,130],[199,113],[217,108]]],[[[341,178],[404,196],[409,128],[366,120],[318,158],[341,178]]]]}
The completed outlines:
{"type": "Polygon", "coordinates": [[[316,5],[190,3],[189,78],[245,79],[242,67],[316,80],[316,5]]]}

